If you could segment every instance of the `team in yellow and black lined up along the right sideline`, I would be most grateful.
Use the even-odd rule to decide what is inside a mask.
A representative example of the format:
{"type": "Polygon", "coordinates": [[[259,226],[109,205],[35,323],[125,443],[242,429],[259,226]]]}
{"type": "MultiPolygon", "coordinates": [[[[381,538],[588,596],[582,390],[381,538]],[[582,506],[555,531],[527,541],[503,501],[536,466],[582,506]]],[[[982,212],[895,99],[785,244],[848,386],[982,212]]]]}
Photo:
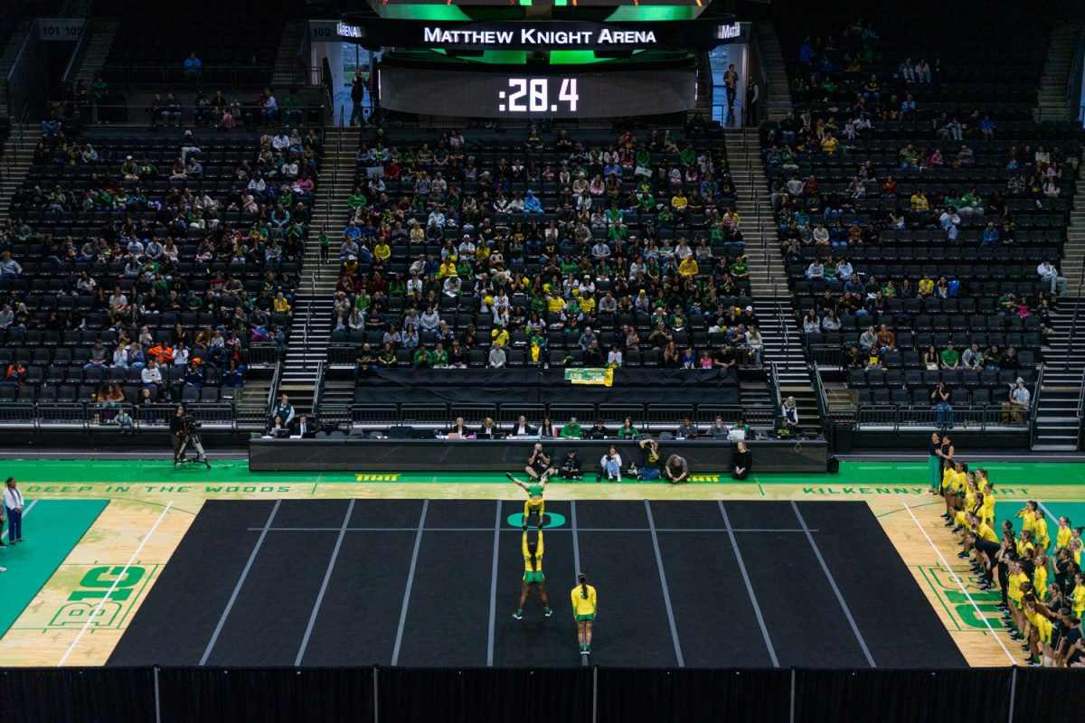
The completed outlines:
{"type": "Polygon", "coordinates": [[[996,492],[987,470],[970,470],[954,459],[948,435],[935,432],[930,448],[931,492],[945,501],[945,526],[959,534],[958,557],[970,560],[980,588],[1001,593],[998,609],[1010,638],[1020,643],[1029,666],[1085,668],[1082,618],[1085,573],[1082,528],[1059,517],[1052,540],[1048,516],[1030,500],[1014,519],[995,519],[996,492]]]}

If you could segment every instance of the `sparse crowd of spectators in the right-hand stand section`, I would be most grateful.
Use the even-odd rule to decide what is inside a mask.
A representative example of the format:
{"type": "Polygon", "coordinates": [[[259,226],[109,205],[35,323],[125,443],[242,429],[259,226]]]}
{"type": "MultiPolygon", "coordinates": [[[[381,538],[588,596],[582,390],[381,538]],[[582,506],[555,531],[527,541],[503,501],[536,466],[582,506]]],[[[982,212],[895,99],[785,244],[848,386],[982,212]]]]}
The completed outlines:
{"type": "Polygon", "coordinates": [[[860,403],[930,404],[940,426],[955,404],[1000,403],[1022,423],[1067,293],[1076,143],[1037,134],[1025,78],[992,98],[939,57],[896,57],[869,23],[843,27],[797,44],[795,112],[763,126],[801,336],[860,403]]]}

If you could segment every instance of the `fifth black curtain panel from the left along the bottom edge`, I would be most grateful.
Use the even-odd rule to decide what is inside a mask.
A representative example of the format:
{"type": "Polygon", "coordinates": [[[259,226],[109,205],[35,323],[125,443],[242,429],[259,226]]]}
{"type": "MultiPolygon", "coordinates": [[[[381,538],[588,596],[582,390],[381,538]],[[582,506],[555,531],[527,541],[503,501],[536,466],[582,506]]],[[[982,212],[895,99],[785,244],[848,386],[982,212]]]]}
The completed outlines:
{"type": "Polygon", "coordinates": [[[1005,721],[1011,670],[795,671],[795,721],[1005,721]]]}

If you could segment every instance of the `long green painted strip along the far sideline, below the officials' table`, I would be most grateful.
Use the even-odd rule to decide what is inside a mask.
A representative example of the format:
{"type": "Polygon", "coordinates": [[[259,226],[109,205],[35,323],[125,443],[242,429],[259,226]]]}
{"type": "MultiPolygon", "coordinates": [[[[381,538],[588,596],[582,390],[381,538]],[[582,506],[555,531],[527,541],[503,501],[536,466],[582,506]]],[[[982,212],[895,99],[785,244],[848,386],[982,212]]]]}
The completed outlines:
{"type": "MultiPolygon", "coordinates": [[[[1080,485],[1085,496],[1085,463],[1071,462],[991,462],[982,457],[969,459],[971,466],[984,466],[996,486],[1018,488],[1025,485],[1080,485]]],[[[754,460],[756,465],[756,460],[754,460]]],[[[174,469],[165,460],[8,460],[0,464],[5,475],[13,475],[23,483],[65,482],[67,485],[201,485],[230,483],[495,483],[508,485],[502,473],[471,472],[376,472],[359,468],[356,472],[259,472],[248,470],[244,460],[213,462],[212,469],[195,465],[174,469]],[[360,478],[359,478],[360,477],[360,478]]],[[[756,467],[755,467],[756,470],[756,467]]],[[[519,472],[519,470],[514,470],[519,472]]],[[[727,472],[693,470],[694,485],[735,483],[727,472]],[[715,479],[712,479],[712,478],[715,479]]],[[[840,472],[829,474],[763,473],[751,476],[748,485],[801,485],[819,487],[865,486],[869,488],[915,487],[927,481],[926,462],[844,462],[840,472]]],[[[574,482],[554,478],[557,485],[613,485],[596,482],[590,475],[574,482]]],[[[626,479],[623,485],[666,485],[666,481],[638,482],[626,479]]]]}

